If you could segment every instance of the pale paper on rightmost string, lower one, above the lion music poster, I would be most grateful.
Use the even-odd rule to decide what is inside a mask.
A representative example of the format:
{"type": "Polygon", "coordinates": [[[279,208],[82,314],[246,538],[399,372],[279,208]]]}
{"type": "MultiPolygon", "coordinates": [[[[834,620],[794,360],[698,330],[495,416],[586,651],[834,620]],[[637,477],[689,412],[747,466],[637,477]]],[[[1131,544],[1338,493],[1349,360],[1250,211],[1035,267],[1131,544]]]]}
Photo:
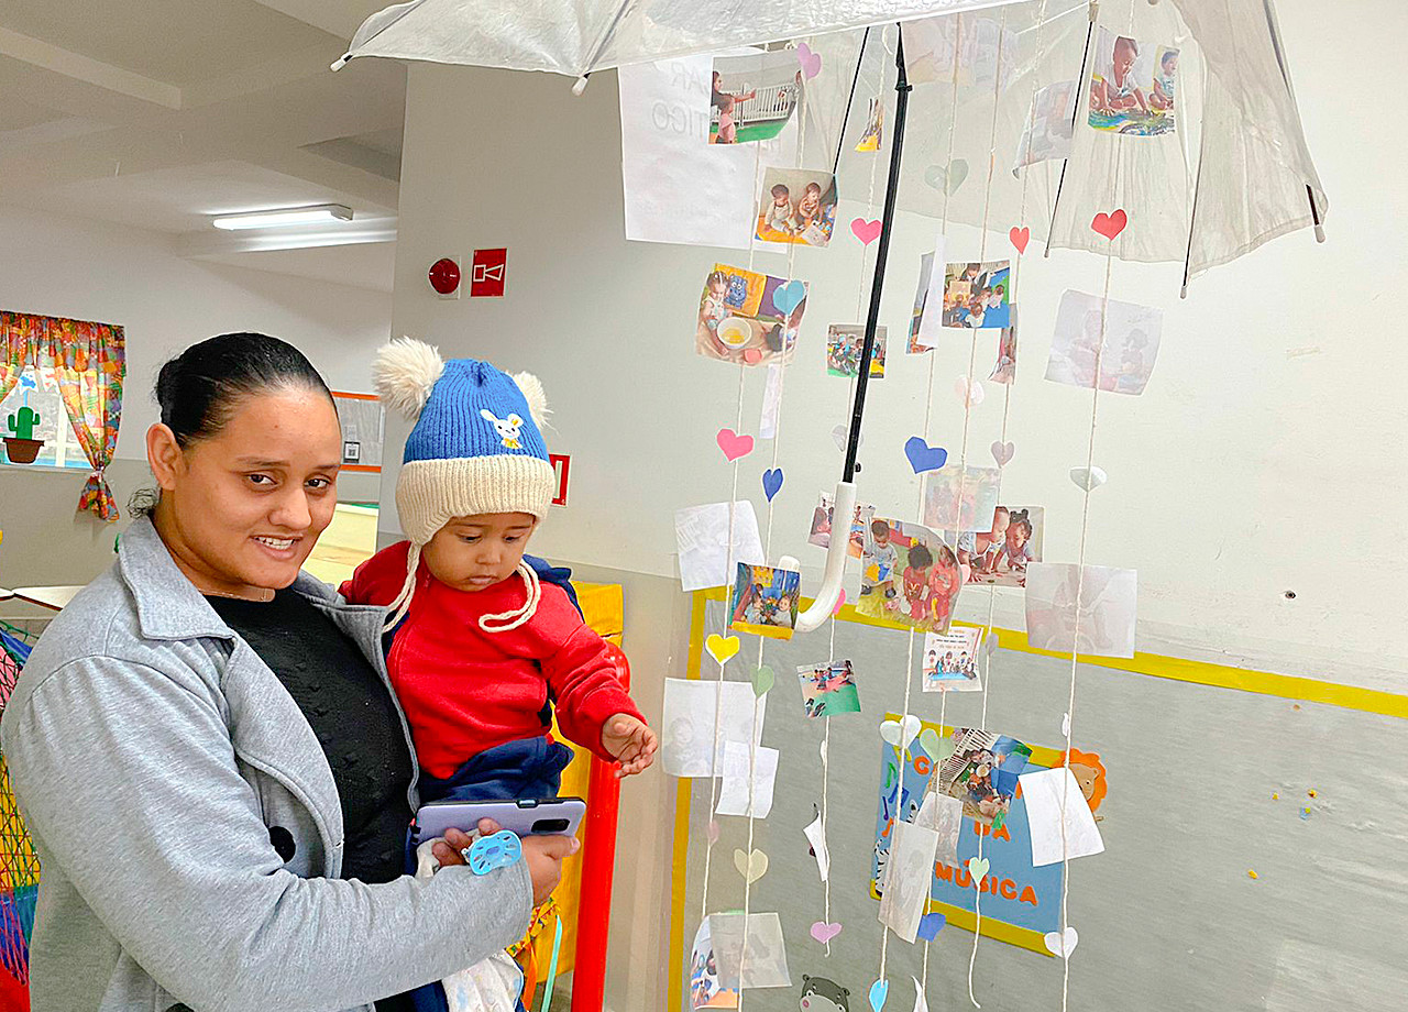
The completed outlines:
{"type": "Polygon", "coordinates": [[[1038,650],[1133,657],[1138,571],[1086,566],[1077,633],[1079,580],[1080,567],[1074,563],[1033,562],[1026,567],[1026,642],[1038,650]]]}

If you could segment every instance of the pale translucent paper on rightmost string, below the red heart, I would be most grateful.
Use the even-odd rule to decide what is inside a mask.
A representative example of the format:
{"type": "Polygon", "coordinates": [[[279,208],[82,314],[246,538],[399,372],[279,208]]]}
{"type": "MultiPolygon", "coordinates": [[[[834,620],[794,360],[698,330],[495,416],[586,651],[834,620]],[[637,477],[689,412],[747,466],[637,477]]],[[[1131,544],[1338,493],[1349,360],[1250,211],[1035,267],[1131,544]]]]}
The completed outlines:
{"type": "Polygon", "coordinates": [[[1108,300],[1084,291],[1066,291],[1056,310],[1056,334],[1046,360],[1046,379],[1073,387],[1095,383],[1100,352],[1100,388],[1115,394],[1142,394],[1159,358],[1163,310],[1108,300]],[[1105,343],[1101,350],[1100,335],[1105,343]]]}

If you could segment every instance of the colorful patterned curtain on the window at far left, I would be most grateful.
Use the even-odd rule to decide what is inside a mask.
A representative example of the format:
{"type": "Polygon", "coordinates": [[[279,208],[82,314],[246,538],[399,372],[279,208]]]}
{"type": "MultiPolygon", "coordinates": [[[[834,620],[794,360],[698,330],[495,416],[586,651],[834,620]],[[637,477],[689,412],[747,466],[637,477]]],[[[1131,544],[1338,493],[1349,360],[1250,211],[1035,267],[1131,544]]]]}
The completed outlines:
{"type": "Polygon", "coordinates": [[[121,327],[0,310],[0,398],[27,366],[49,366],[73,422],[73,435],[93,467],[79,510],[108,524],[120,515],[104,472],[113,463],[122,417],[127,341],[121,327]]]}

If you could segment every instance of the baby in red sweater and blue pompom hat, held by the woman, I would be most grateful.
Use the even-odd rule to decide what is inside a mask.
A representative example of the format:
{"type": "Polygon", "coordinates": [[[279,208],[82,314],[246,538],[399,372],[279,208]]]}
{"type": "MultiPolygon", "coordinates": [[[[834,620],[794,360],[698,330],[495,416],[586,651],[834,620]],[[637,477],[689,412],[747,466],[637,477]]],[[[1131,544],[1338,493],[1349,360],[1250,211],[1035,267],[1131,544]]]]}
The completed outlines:
{"type": "Polygon", "coordinates": [[[415,421],[396,483],[410,535],[342,584],[384,605],[386,666],[421,764],[422,801],[558,794],[573,742],[645,770],[656,736],[582,621],[562,570],[524,556],[556,481],[538,431],[542,386],[403,338],[376,362],[382,398],[415,421]]]}

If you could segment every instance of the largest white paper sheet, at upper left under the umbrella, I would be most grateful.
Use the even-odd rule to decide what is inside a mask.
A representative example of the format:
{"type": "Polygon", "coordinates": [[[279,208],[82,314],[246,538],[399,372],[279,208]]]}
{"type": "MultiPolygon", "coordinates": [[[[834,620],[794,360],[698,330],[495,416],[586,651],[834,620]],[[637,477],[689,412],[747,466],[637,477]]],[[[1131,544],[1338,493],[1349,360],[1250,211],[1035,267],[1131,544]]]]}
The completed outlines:
{"type": "Polygon", "coordinates": [[[772,141],[708,142],[712,63],[686,56],[617,70],[628,239],[748,249],[760,166],[796,162],[797,117],[772,141]]]}

